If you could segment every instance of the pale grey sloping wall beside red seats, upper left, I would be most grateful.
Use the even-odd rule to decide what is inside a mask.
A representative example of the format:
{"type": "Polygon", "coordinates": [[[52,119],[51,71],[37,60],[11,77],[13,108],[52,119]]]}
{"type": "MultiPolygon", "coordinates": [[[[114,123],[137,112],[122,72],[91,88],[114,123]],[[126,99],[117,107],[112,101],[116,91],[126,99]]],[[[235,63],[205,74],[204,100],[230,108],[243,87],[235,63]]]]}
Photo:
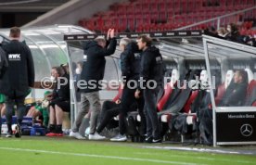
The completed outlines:
{"type": "Polygon", "coordinates": [[[45,13],[35,20],[25,24],[23,27],[43,26],[53,24],[73,24],[78,20],[91,18],[98,11],[108,11],[109,6],[115,2],[126,2],[127,0],[71,0],[45,13]]]}

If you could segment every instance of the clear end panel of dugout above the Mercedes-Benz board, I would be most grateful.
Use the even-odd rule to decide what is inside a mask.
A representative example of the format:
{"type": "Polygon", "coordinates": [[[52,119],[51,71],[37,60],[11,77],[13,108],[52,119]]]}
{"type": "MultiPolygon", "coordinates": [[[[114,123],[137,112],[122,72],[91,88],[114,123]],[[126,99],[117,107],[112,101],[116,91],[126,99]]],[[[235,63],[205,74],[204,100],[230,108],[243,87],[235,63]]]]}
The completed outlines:
{"type": "Polygon", "coordinates": [[[207,47],[216,107],[251,107],[255,104],[256,48],[221,40],[208,42],[207,47]]]}

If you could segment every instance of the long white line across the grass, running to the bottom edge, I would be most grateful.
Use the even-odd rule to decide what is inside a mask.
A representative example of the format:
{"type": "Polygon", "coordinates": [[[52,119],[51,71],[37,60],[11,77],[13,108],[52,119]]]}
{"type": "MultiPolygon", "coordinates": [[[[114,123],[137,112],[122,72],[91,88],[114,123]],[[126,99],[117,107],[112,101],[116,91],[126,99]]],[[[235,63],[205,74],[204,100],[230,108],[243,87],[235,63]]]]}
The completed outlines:
{"type": "Polygon", "coordinates": [[[39,153],[45,153],[45,154],[91,157],[91,158],[101,158],[101,159],[122,159],[122,160],[147,161],[147,162],[164,163],[164,164],[198,165],[198,163],[196,164],[196,163],[187,163],[187,162],[179,162],[179,161],[168,161],[168,160],[161,160],[161,159],[137,159],[137,158],[129,158],[129,157],[103,156],[103,155],[94,155],[94,154],[79,154],[79,153],[47,151],[47,150],[26,149],[26,148],[0,147],[0,149],[12,150],[12,151],[22,151],[22,152],[39,152],[39,153]]]}

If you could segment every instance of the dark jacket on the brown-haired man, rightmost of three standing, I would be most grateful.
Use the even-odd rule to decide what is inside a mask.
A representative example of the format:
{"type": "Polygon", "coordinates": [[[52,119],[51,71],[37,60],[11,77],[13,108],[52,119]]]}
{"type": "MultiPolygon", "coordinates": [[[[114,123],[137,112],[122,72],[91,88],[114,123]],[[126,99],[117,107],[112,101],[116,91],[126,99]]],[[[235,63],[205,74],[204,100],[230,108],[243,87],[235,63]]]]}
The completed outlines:
{"type": "Polygon", "coordinates": [[[160,49],[155,46],[147,47],[142,52],[141,57],[140,77],[146,81],[144,87],[146,87],[147,81],[149,80],[154,80],[158,85],[161,85],[163,83],[164,65],[160,55],[160,49]]]}

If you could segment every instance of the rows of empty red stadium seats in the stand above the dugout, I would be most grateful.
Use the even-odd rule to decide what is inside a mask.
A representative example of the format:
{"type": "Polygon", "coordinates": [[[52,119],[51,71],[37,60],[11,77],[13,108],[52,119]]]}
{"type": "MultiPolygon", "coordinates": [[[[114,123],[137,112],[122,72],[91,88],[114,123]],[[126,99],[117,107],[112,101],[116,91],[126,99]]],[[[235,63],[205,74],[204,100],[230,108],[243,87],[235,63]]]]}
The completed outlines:
{"type": "MultiPolygon", "coordinates": [[[[138,23],[132,23],[132,21],[128,20],[128,24],[123,25],[115,23],[117,26],[116,29],[119,31],[125,31],[129,29],[130,31],[137,32],[155,32],[155,31],[170,31],[182,26],[186,26],[187,24],[192,24],[203,19],[211,19],[213,17],[222,16],[227,14],[227,12],[234,12],[237,10],[241,10],[247,8],[249,6],[254,6],[256,2],[253,0],[248,0],[245,2],[236,2],[232,1],[227,3],[225,0],[220,0],[220,2],[206,1],[206,0],[177,0],[177,1],[167,1],[167,0],[136,0],[130,1],[127,3],[115,3],[109,7],[109,11],[96,13],[96,17],[104,17],[109,16],[109,18],[118,17],[118,18],[136,18],[140,19],[150,19],[147,23],[152,24],[145,27],[150,27],[149,29],[143,28],[142,22],[138,21],[138,23]],[[197,16],[195,15],[197,13],[197,16]],[[193,17],[192,17],[193,16],[193,17]],[[177,18],[173,18],[177,17],[177,18]],[[171,21],[170,21],[171,20],[171,21]],[[159,24],[163,23],[163,24],[159,24]],[[166,24],[165,24],[166,23],[166,24]],[[174,24],[174,26],[170,26],[169,23],[174,24]],[[122,28],[120,27],[122,26],[122,28]],[[125,26],[125,27],[124,27],[125,26]]],[[[256,10],[255,10],[256,11],[256,10]]],[[[247,15],[244,16],[243,19],[253,19],[256,15],[251,15],[248,12],[247,15]]],[[[228,17],[225,19],[221,19],[221,26],[226,26],[230,22],[237,22],[240,16],[228,17]]],[[[95,19],[92,18],[92,19],[95,19]]],[[[127,21],[127,20],[126,20],[127,21]]],[[[100,24],[101,21],[96,21],[96,26],[92,24],[87,25],[82,20],[79,21],[79,25],[97,31],[106,31],[106,28],[102,28],[100,24]]],[[[115,21],[114,21],[115,22],[115,21]]],[[[217,24],[206,23],[205,25],[198,25],[193,27],[192,29],[205,29],[208,26],[217,26],[217,24]]],[[[252,22],[248,21],[244,23],[243,28],[250,30],[252,26],[252,22]]]]}

